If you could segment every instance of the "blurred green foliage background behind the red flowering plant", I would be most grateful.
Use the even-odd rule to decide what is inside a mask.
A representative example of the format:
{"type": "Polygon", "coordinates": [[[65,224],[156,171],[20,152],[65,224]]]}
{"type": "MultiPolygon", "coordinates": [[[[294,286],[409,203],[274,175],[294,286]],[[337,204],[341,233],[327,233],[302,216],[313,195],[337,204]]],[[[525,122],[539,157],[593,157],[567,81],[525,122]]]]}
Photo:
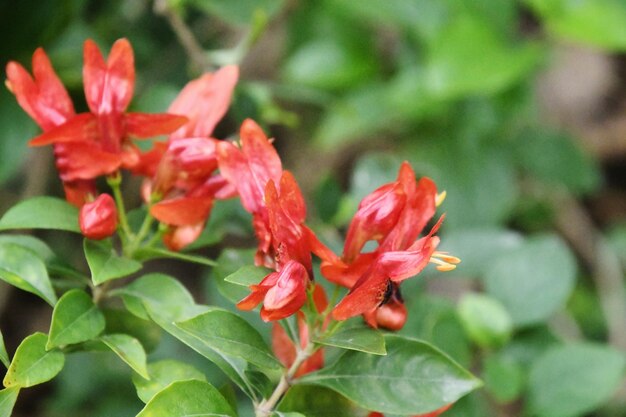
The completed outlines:
{"type": "MultiPolygon", "coordinates": [[[[403,160],[447,191],[441,247],[463,263],[407,282],[403,329],[485,381],[446,416],[626,416],[626,2],[161,3],[165,14],[147,0],[2,0],[0,63],[29,67],[43,46],[80,111],[83,41],[107,51],[127,37],[132,107],[150,112],[166,110],[201,68],[240,64],[216,136],[246,117],[264,125],[305,191],[309,223],[334,248],[359,200],[394,179],[403,160]],[[186,53],[176,22],[204,49],[200,59],[186,53]]],[[[28,196],[60,195],[51,150],[27,148],[37,127],[6,89],[0,125],[2,212],[28,196]]],[[[136,186],[127,190],[135,205],[136,186]]],[[[218,205],[202,240],[207,254],[221,253],[221,268],[153,267],[200,300],[230,305],[220,277],[250,258],[221,249],[253,245],[237,207],[218,205]]],[[[46,237],[77,258],[79,241],[46,237]]],[[[42,304],[0,287],[9,351],[47,330],[42,304]]],[[[220,381],[181,349],[163,339],[152,358],[195,361],[220,381]]],[[[14,415],[133,416],[141,403],[129,376],[112,356],[76,355],[55,382],[26,390],[14,415]]]]}

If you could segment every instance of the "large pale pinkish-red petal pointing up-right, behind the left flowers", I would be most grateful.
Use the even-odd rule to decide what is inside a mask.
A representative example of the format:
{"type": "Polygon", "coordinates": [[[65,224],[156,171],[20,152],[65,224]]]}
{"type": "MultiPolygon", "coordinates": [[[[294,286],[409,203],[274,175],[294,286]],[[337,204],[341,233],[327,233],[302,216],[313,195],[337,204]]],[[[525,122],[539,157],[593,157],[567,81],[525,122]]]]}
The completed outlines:
{"type": "Polygon", "coordinates": [[[228,110],[238,77],[239,68],[231,65],[187,83],[168,112],[184,114],[189,121],[170,140],[209,137],[228,110]]]}

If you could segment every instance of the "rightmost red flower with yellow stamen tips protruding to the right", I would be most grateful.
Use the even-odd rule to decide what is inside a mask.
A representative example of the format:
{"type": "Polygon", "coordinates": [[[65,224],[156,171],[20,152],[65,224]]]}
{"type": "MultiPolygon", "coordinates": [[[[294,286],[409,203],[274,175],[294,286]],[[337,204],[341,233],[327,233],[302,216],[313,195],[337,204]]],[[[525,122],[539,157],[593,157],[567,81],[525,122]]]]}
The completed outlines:
{"type": "Polygon", "coordinates": [[[350,288],[333,310],[336,320],[364,314],[373,327],[399,330],[406,321],[406,309],[399,283],[421,272],[429,262],[449,270],[459,260],[436,253],[439,238],[431,232],[416,241],[433,217],[437,188],[428,178],[415,180],[408,163],[403,163],[395,182],[385,184],[363,199],[348,229],[343,256],[338,258],[314,245],[323,259],[322,274],[350,288]],[[378,247],[361,253],[366,242],[378,247]]]}

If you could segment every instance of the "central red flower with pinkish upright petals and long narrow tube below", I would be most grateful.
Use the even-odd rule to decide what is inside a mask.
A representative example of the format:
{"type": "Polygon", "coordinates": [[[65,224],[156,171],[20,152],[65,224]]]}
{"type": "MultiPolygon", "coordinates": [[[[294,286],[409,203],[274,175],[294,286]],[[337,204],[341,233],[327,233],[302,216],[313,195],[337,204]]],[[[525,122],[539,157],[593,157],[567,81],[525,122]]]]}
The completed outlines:
{"type": "Polygon", "coordinates": [[[282,164],[263,130],[251,119],[245,120],[241,125],[240,143],[240,147],[230,142],[218,144],[220,172],[237,189],[243,207],[252,213],[254,231],[259,242],[255,263],[274,268],[264,195],[269,180],[273,180],[275,184],[280,181],[282,164]]]}

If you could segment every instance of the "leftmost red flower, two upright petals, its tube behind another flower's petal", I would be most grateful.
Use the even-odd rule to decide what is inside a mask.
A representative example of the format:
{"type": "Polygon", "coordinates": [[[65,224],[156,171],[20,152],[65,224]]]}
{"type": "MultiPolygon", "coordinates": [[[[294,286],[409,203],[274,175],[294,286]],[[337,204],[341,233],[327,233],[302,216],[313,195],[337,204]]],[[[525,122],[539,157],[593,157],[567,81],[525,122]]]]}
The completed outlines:
{"type": "MultiPolygon", "coordinates": [[[[62,125],[74,117],[74,105],[63,83],[54,72],[48,56],[42,48],[33,54],[33,75],[17,62],[6,67],[7,87],[15,94],[17,102],[44,132],[62,125]]],[[[92,180],[71,180],[68,161],[77,159],[78,151],[71,145],[59,143],[54,146],[56,166],[63,180],[67,200],[80,207],[96,195],[92,180]]]]}

